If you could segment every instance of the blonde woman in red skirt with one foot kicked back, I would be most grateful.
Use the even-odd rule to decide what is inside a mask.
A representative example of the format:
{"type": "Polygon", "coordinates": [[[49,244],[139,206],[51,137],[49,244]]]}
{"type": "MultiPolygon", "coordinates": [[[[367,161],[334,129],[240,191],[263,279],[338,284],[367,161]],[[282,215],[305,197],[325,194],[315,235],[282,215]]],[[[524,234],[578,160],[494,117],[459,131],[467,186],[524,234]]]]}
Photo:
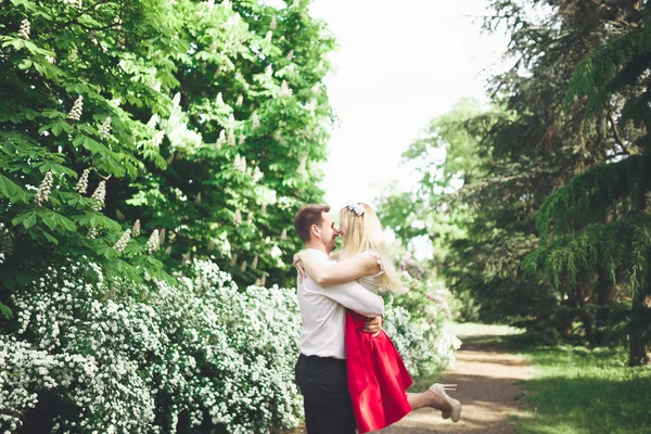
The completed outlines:
{"type": "MultiPolygon", "coordinates": [[[[340,213],[342,251],[330,266],[315,261],[305,252],[294,256],[299,279],[309,275],[322,285],[357,280],[369,291],[400,291],[403,285],[388,255],[380,219],[361,203],[349,204],[340,213]]],[[[461,404],[445,391],[456,385],[433,384],[429,391],[407,393],[412,380],[400,355],[382,330],[371,335],[362,332],[366,318],[346,312],[346,367],[357,429],[360,433],[381,430],[421,407],[442,410],[444,419],[459,420],[461,404]]]]}

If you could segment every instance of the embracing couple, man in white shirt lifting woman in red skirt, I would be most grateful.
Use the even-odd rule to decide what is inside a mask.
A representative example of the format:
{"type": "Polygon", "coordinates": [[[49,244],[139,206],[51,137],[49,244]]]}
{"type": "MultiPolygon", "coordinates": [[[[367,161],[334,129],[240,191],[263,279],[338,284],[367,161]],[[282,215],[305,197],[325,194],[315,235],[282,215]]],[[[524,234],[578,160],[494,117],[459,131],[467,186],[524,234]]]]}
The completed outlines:
{"type": "Polygon", "coordinates": [[[346,205],[340,228],[327,205],[306,205],[294,228],[306,250],[294,256],[303,332],[296,363],[308,434],[367,433],[432,407],[457,422],[461,405],[433,384],[407,393],[411,376],[382,330],[384,302],[378,291],[400,290],[384,233],[373,209],[346,205]],[[341,252],[333,253],[342,235],[341,252]]]}

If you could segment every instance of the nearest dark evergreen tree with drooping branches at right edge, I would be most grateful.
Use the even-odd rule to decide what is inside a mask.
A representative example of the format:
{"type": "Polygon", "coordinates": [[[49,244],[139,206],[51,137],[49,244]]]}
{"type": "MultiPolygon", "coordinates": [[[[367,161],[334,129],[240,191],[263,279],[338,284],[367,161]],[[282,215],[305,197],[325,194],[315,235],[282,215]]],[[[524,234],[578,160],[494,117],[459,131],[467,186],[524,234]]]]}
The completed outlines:
{"type": "Polygon", "coordinates": [[[547,197],[538,214],[545,242],[525,261],[557,284],[563,273],[576,281],[582,271],[603,275],[611,284],[622,281],[630,302],[610,322],[627,336],[629,366],[649,362],[651,342],[651,9],[637,3],[640,20],[585,58],[566,98],[586,99],[586,117],[617,116],[618,161],[593,167],[547,197]],[[614,113],[613,100],[624,101],[614,113]],[[643,133],[627,135],[628,125],[643,133]]]}

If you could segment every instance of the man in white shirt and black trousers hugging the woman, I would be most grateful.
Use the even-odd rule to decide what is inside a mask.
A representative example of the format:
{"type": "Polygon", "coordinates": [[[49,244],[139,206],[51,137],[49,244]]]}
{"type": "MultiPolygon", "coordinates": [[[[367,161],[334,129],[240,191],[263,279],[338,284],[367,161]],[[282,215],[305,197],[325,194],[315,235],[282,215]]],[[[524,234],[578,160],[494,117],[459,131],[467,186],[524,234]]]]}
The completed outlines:
{"type": "MultiPolygon", "coordinates": [[[[294,228],[308,254],[323,263],[331,261],[329,254],[340,234],[329,212],[327,205],[306,205],[294,217],[294,228]]],[[[307,433],[354,434],[345,360],[346,308],[369,317],[365,331],[376,333],[384,302],[357,282],[322,288],[308,276],[298,282],[298,305],[303,332],[295,375],[307,433]]]]}

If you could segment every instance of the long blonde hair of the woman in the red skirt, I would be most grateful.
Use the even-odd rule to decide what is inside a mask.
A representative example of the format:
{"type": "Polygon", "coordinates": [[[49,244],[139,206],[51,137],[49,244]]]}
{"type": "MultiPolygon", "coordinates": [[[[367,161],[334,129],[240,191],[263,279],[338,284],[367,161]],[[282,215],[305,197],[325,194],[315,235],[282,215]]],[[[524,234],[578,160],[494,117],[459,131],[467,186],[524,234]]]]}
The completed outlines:
{"type": "Polygon", "coordinates": [[[403,290],[403,283],[393,264],[384,241],[384,230],[378,215],[370,205],[363,205],[363,214],[344,207],[340,212],[340,226],[345,227],[342,240],[342,259],[368,250],[374,251],[382,261],[384,273],[380,276],[381,288],[393,292],[403,290]]]}

